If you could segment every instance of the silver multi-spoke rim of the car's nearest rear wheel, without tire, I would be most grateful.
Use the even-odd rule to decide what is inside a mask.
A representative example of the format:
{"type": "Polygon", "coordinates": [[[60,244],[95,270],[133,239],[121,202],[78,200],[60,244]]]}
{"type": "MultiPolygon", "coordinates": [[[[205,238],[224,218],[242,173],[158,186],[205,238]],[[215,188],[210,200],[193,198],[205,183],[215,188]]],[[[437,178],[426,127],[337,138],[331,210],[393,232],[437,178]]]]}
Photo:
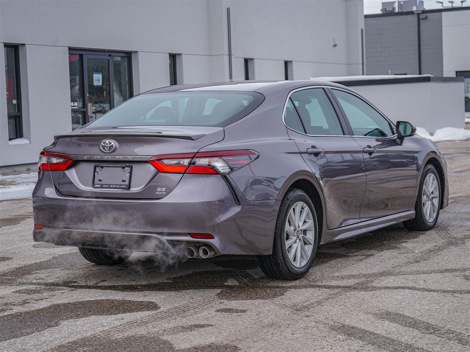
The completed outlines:
{"type": "Polygon", "coordinates": [[[313,252],[315,223],[310,208],[302,201],[289,210],[284,230],[284,241],[290,262],[302,268],[313,252]]]}

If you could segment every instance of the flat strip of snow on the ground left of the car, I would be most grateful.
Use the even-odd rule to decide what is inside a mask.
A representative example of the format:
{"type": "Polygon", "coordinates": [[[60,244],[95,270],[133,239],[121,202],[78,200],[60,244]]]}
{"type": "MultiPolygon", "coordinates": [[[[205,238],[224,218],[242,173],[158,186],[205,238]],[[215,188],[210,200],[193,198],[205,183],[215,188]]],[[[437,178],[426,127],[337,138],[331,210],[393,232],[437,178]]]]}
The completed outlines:
{"type": "Polygon", "coordinates": [[[37,172],[21,175],[0,175],[0,200],[31,198],[37,180],[37,172]]]}

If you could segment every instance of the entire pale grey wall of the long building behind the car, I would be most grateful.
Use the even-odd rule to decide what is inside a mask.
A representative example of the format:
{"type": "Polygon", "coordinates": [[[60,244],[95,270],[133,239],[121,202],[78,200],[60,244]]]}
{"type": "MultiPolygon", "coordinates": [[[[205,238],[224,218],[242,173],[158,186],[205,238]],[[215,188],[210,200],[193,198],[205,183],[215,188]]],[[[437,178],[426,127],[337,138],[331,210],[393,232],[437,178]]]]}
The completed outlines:
{"type": "Polygon", "coordinates": [[[31,143],[8,144],[1,74],[0,166],[36,162],[54,135],[71,130],[70,47],[132,52],[134,94],[169,84],[169,53],[181,54],[178,83],[228,80],[227,7],[235,80],[244,79],[243,58],[254,59],[255,79],[284,79],[284,60],[293,61],[294,79],[361,73],[362,0],[3,0],[0,48],[20,45],[31,143]]]}

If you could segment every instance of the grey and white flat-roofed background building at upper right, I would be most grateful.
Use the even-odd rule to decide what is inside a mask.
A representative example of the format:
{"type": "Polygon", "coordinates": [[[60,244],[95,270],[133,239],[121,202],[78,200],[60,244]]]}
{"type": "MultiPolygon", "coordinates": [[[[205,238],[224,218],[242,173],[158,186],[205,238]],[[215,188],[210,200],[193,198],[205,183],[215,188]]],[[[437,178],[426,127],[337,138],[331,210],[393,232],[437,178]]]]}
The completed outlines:
{"type": "Polygon", "coordinates": [[[364,16],[365,73],[464,77],[470,116],[470,8],[364,16]]]}

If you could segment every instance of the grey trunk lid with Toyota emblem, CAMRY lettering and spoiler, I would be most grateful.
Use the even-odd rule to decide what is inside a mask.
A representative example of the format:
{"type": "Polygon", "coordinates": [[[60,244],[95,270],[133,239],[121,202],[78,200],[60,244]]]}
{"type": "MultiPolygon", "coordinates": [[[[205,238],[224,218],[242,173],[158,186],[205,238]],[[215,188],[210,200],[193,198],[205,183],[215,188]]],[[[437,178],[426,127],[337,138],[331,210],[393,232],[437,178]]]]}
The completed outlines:
{"type": "Polygon", "coordinates": [[[159,173],[147,161],[149,158],[162,154],[196,153],[223,138],[221,127],[80,128],[55,136],[54,143],[45,150],[68,154],[74,159],[67,170],[50,171],[57,191],[63,195],[158,199],[176,187],[182,174],[159,173]],[[100,148],[105,141],[114,145],[114,148],[109,148],[112,149],[110,152],[104,151],[106,143],[100,148]],[[113,184],[122,181],[120,187],[128,184],[128,188],[96,188],[101,175],[109,177],[103,177],[102,185],[113,186],[108,181],[113,184]]]}

